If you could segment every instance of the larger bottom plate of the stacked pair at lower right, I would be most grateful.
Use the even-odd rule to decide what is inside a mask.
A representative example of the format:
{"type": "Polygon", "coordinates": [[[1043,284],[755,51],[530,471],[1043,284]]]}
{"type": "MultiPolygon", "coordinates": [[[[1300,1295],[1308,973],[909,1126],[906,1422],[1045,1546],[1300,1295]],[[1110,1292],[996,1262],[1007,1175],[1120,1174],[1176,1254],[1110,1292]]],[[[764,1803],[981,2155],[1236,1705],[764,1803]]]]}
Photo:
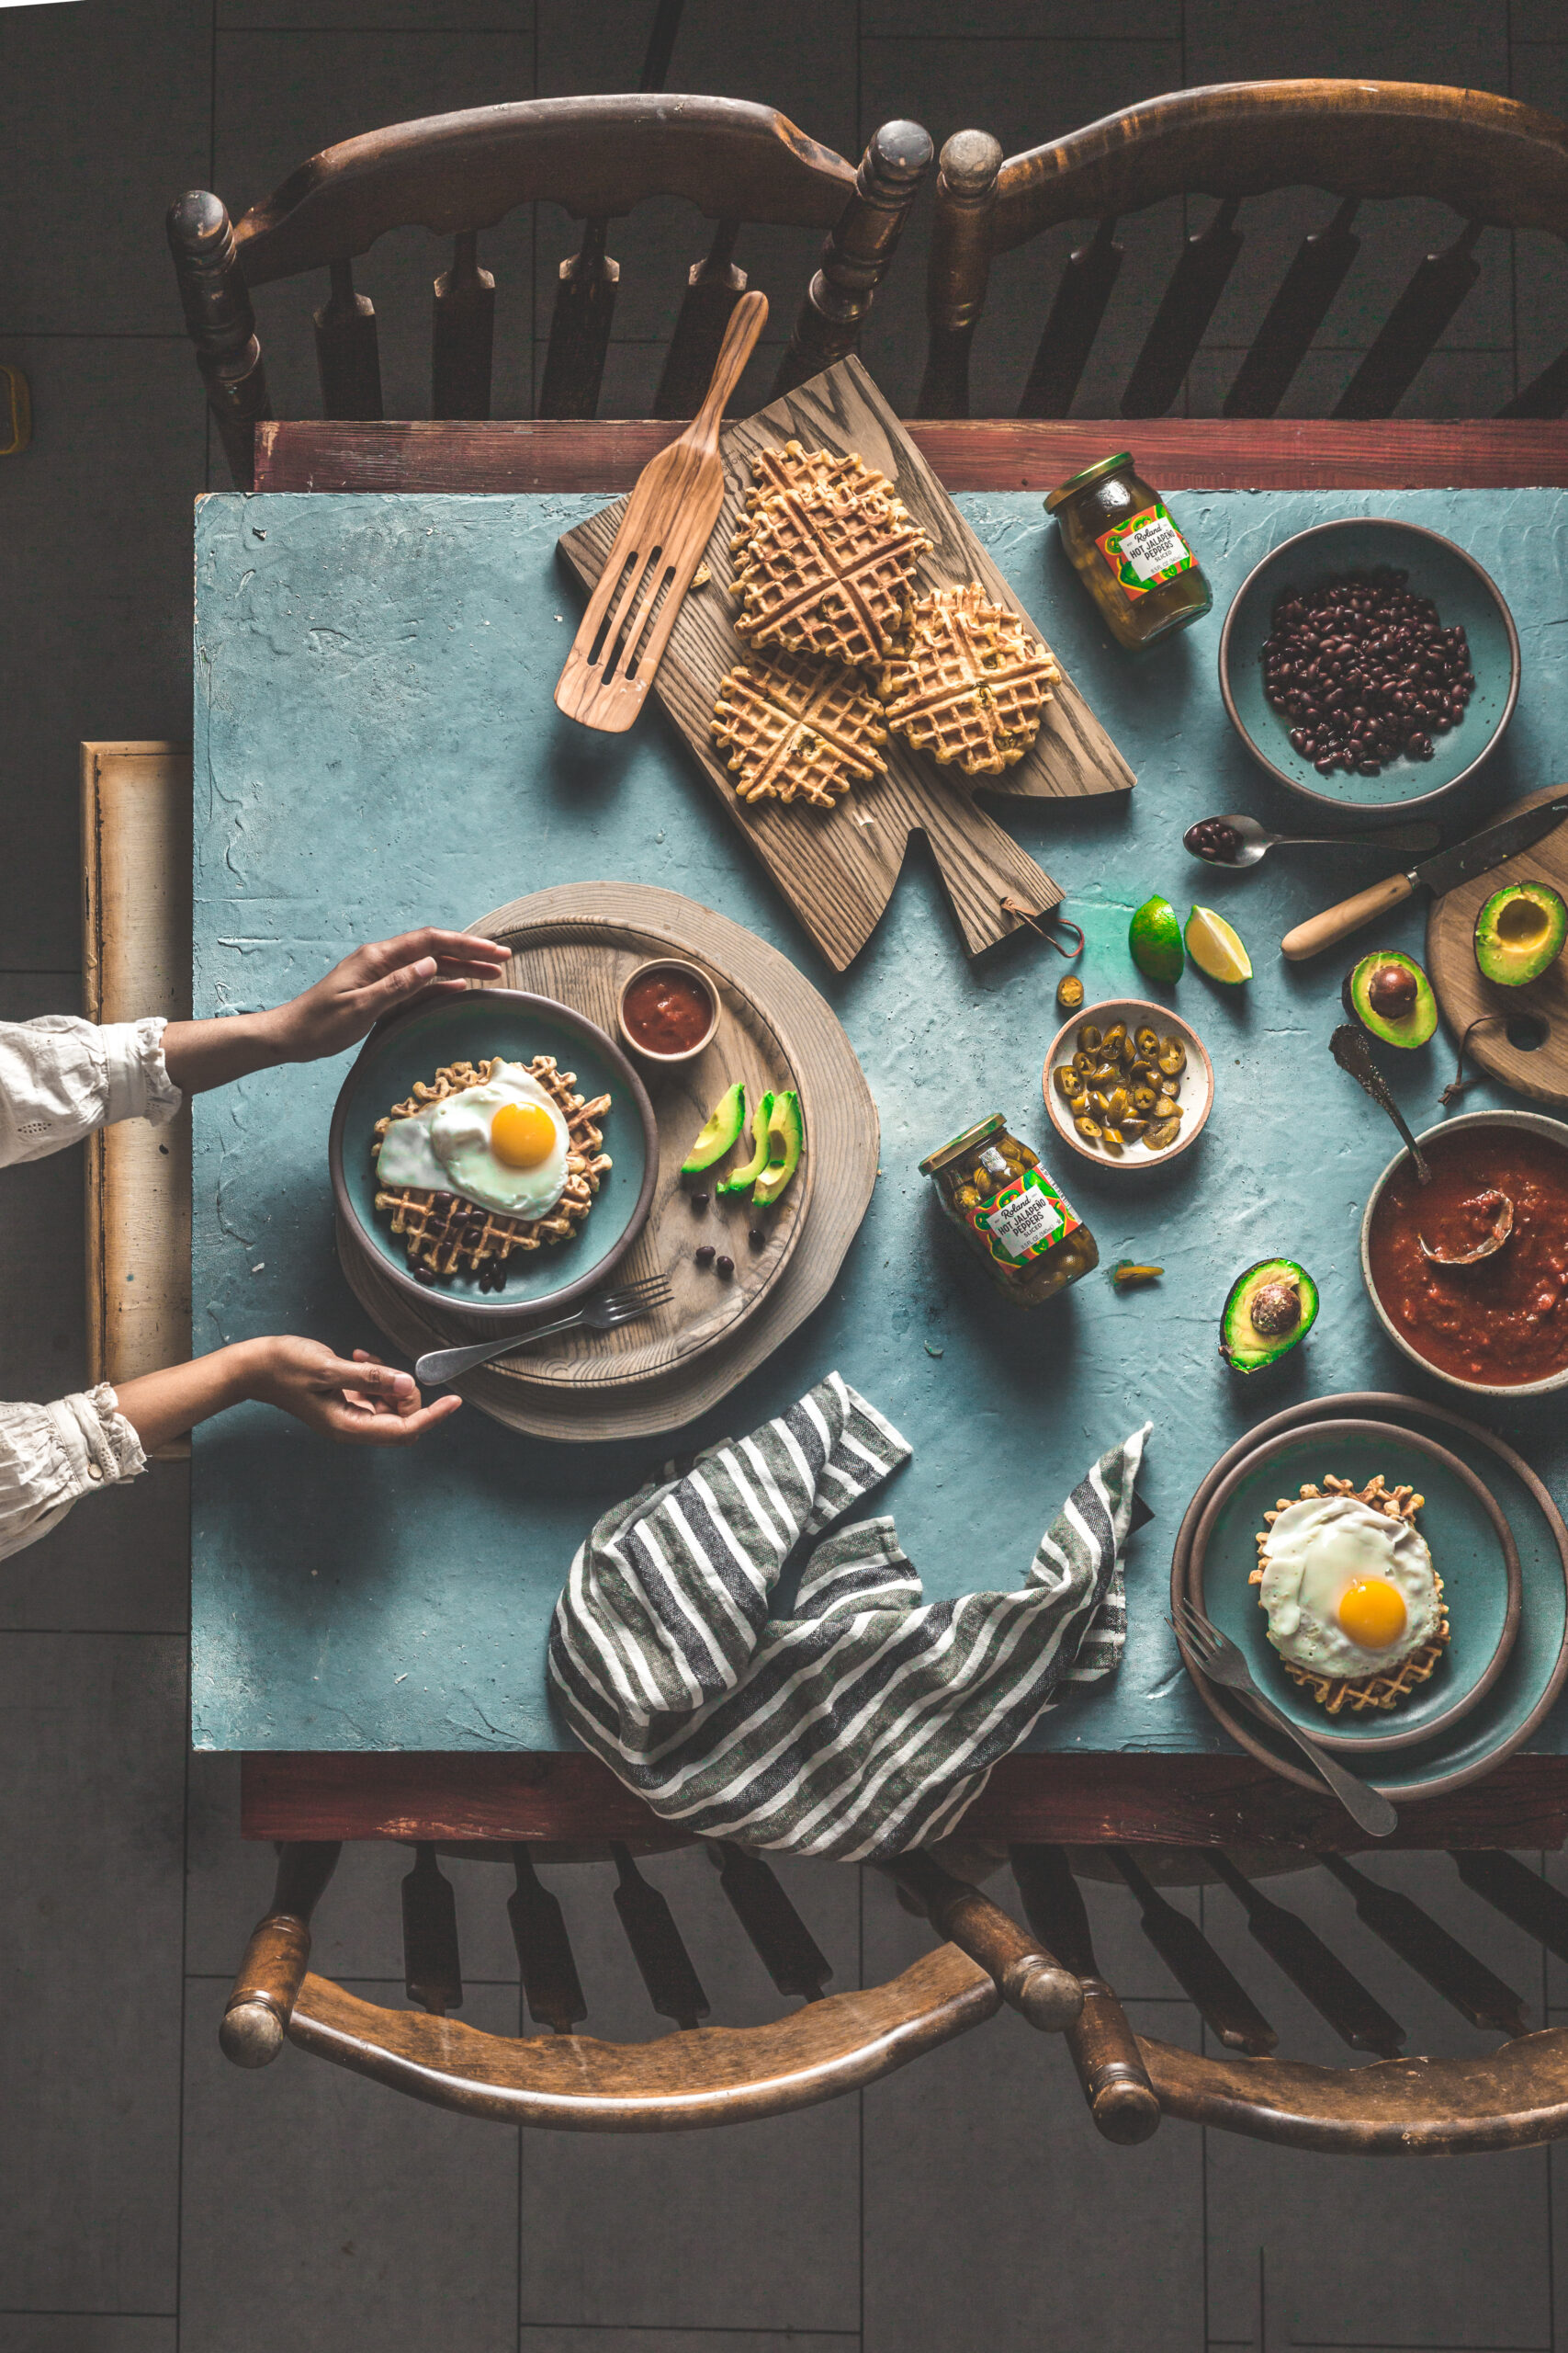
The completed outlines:
{"type": "MultiPolygon", "coordinates": [[[[1568,1527],[1556,1504],[1509,1445],[1490,1431],[1465,1421],[1446,1405],[1427,1405],[1422,1398],[1401,1398],[1373,1391],[1349,1391],[1335,1398],[1309,1398],[1284,1414],[1274,1414],[1260,1428],[1248,1431],[1213,1466],[1201,1482],[1175,1537],[1171,1560],[1173,1600],[1190,1591],[1187,1565],[1192,1537],[1208,1497],[1220,1480],[1246,1461],[1246,1457],[1281,1431],[1307,1428],[1314,1421],[1345,1417],[1413,1424],[1432,1431],[1439,1445],[1458,1454],[1486,1487],[1490,1487],[1502,1515],[1514,1532],[1519,1548],[1521,1612],[1519,1635],[1507,1664],[1490,1692],[1460,1722],[1436,1732],[1413,1748],[1394,1748],[1378,1762],[1378,1788],[1396,1805],[1415,1798],[1441,1798],[1448,1791],[1481,1781],[1495,1765],[1514,1755],[1530,1739],[1530,1732],[1552,1708],[1568,1678],[1568,1527]]],[[[1387,1475],[1387,1473],[1385,1473],[1387,1475]]],[[[1239,1748],[1258,1758],[1298,1788],[1324,1795],[1324,1784],[1302,1765],[1295,1748],[1267,1729],[1229,1692],[1194,1678],[1197,1692],[1208,1713],[1220,1722],[1239,1748]]]]}

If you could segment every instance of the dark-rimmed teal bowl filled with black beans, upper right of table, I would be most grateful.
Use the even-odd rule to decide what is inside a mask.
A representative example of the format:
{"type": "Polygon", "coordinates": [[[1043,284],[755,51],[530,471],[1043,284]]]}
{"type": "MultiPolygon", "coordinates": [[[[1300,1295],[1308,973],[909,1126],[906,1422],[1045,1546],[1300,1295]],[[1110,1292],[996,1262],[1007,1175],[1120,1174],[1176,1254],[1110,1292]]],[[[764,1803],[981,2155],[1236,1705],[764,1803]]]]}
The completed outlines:
{"type": "Polygon", "coordinates": [[[1286,539],[1220,633],[1220,694],[1253,758],[1347,814],[1453,791],[1514,718],[1519,631],[1481,565],[1415,522],[1286,539]]]}

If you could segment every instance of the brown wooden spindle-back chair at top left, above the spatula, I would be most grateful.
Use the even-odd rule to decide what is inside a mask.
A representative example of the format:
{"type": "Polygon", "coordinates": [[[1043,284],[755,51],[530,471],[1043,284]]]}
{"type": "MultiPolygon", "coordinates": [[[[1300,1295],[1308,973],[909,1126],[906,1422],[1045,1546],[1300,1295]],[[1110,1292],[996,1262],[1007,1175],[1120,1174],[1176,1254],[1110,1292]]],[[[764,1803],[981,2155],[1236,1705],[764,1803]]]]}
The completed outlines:
{"type": "Polygon", "coordinates": [[[595,96],[482,106],[343,139],[301,165],[230,224],[223,202],[190,191],[169,207],[169,247],[186,325],[235,482],[252,487],[252,438],[270,416],[249,289],[329,271],[315,313],[327,416],[381,416],[376,313],[353,264],[393,228],[449,235],[435,280],[430,414],[489,416],[496,280],[480,233],[517,205],[564,205],[583,242],[559,266],[541,416],[592,416],[621,268],[609,224],[656,195],[679,195],[715,221],[686,278],[656,416],[691,416],[729,313],[745,292],[733,261],[743,224],[823,228],[823,261],[799,306],[773,398],[856,348],[931,162],[917,122],[886,122],[856,172],[771,106],[741,99],[595,96]]]}

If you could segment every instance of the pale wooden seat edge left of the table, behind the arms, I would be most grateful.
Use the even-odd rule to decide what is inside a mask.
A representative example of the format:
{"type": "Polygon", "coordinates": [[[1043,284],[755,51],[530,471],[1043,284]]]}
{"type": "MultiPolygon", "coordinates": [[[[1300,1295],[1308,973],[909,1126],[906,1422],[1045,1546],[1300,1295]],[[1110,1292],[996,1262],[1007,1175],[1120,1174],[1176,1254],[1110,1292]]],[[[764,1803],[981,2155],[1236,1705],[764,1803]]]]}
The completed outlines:
{"type": "MultiPolygon", "coordinates": [[[[190,1019],[190,748],[82,744],[89,1021],[190,1019]]],[[[190,1106],[87,1139],[87,1379],[190,1355],[190,1106]]],[[[190,1440],[158,1447],[160,1461],[190,1440]]]]}

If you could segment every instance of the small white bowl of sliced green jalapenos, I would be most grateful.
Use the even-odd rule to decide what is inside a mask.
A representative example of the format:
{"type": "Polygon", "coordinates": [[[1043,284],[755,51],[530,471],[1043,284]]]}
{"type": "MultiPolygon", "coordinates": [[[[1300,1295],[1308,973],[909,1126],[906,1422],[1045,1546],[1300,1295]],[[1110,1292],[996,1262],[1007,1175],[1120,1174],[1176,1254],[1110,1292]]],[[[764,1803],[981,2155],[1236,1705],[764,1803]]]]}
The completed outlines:
{"type": "Polygon", "coordinates": [[[1105,998],[1063,1021],[1046,1054],[1046,1111],[1084,1160],[1175,1160],[1213,1106],[1204,1040],[1168,1005],[1105,998]]]}

